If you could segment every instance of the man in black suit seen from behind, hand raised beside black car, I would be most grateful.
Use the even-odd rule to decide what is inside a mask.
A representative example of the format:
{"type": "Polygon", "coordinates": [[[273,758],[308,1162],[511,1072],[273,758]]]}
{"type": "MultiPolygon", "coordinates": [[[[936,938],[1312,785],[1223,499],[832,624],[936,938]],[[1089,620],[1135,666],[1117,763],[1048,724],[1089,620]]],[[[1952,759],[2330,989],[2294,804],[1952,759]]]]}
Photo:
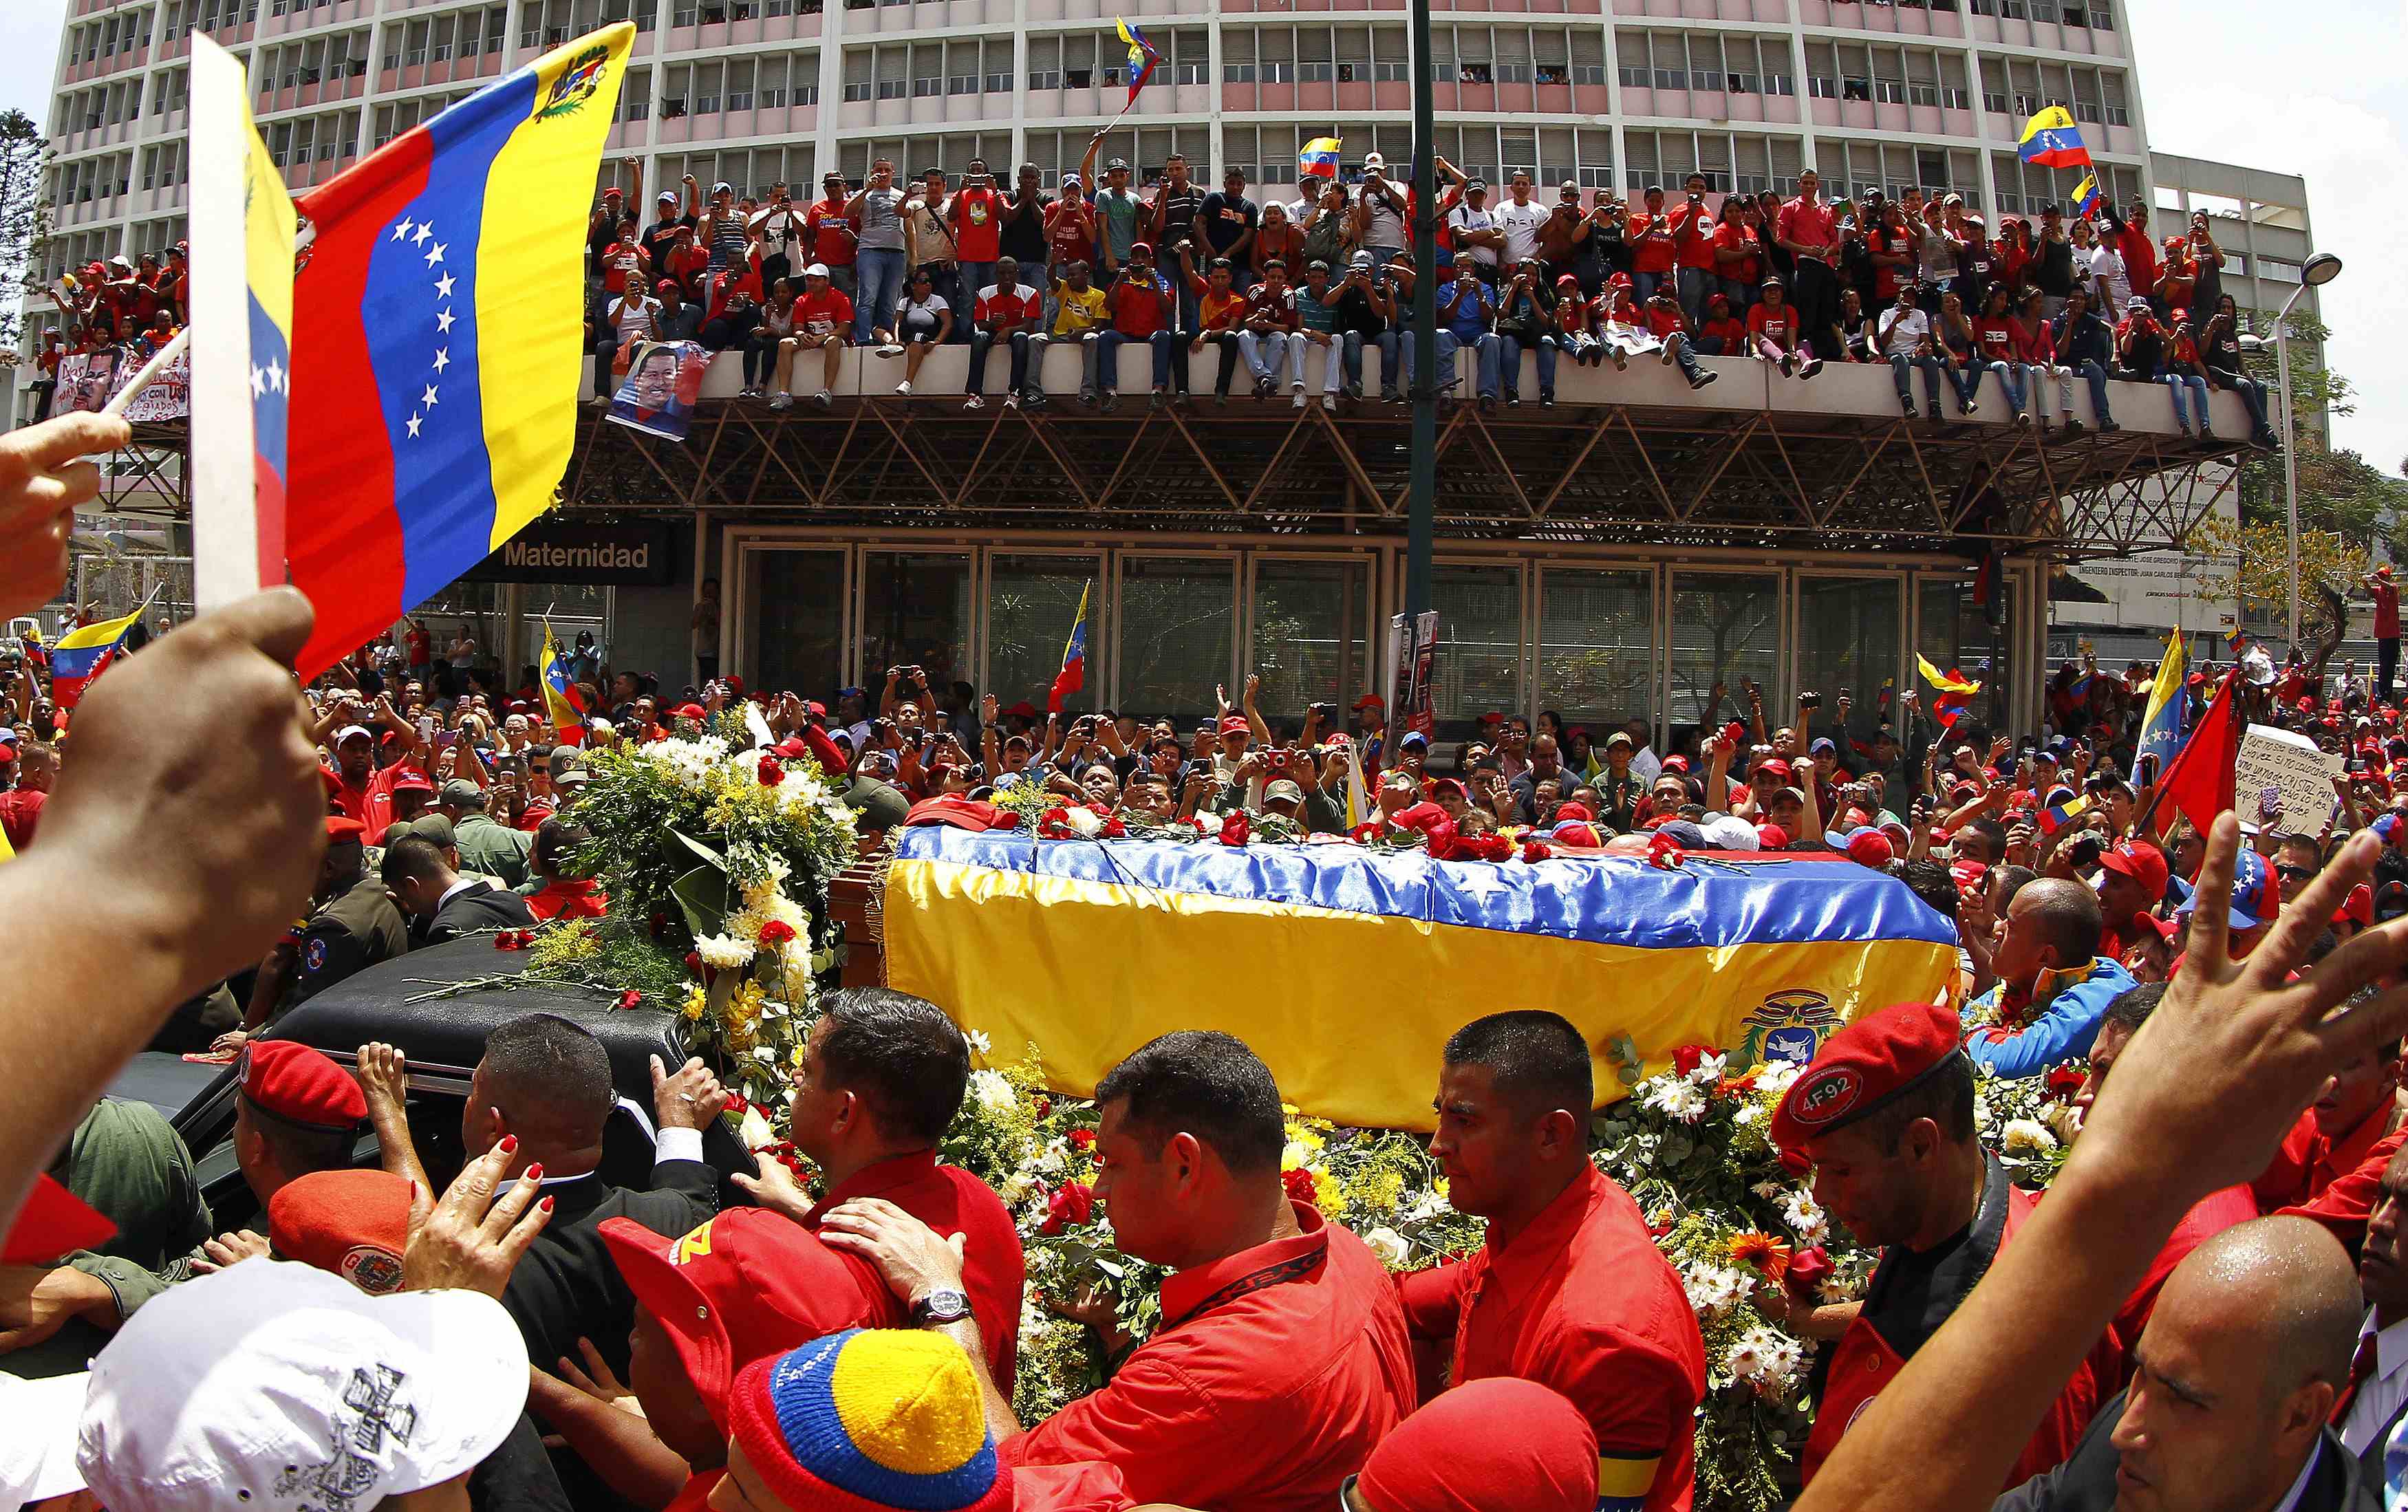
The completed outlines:
{"type": "Polygon", "coordinates": [[[501,1180],[542,1170],[551,1221],[518,1262],[501,1305],[527,1336],[539,1370],[578,1360],[590,1339],[609,1368],[626,1375],[626,1334],[636,1293],[602,1245],[604,1218],[633,1218],[653,1233],[684,1235],[718,1211],[718,1173],[703,1163],[703,1136],[727,1108],[727,1091],[701,1059],[674,1076],[653,1057],[653,1103],[660,1115],[653,1187],[633,1192],[600,1175],[602,1124],[616,1093],[609,1055],[583,1026],[559,1014],[527,1014],[484,1043],[460,1115],[470,1158],[515,1139],[501,1180]]]}

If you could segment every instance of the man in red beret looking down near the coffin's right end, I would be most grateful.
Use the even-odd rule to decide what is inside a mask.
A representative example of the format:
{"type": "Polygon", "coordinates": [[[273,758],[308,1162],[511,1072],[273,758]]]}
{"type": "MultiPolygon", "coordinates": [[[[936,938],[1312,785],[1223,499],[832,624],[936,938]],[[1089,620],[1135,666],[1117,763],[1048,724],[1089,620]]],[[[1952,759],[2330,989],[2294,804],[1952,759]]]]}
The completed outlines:
{"type": "MultiPolygon", "coordinates": [[[[1772,1115],[1772,1144],[1813,1163],[1816,1201],[1859,1242],[1885,1250],[1861,1305],[1792,1300],[1792,1331],[1840,1336],[1799,1461],[1808,1486],[2032,1211],[2035,1199],[2008,1185],[2006,1168],[1975,1136],[1975,1071],[1958,1038],[1955,1009],[1898,1004],[1866,1014],[1823,1043],[1772,1115]]],[[[2112,1394],[2117,1356],[2114,1339],[2102,1336],[2006,1486],[2064,1464],[2112,1394]]]]}

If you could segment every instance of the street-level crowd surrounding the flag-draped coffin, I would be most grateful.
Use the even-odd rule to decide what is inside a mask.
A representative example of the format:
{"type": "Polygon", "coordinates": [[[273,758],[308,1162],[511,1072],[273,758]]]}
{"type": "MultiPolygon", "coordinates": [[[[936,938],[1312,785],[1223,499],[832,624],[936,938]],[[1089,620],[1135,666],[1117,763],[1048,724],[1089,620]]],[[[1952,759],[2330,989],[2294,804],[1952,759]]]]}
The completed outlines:
{"type": "MultiPolygon", "coordinates": [[[[77,457],[123,438],[87,414],[0,436],[0,612],[58,590],[96,489],[77,457]]],[[[479,665],[465,631],[438,665],[405,626],[296,696],[308,624],[296,595],[260,595],[157,636],[72,710],[39,667],[7,686],[0,1370],[67,1324],[108,1339],[65,1389],[0,1380],[0,1502],[1698,1500],[1698,1317],[1589,1158],[1592,1047],[1544,1006],[1469,1002],[1428,1067],[1428,1153],[1486,1242],[1404,1274],[1291,1199],[1281,1091],[1247,1045],[1173,1030],[1125,1057],[1093,1091],[1096,1199],[1125,1254],[1170,1271],[1163,1315],[1134,1348],[1091,1317],[1103,1384],[1033,1425],[1014,1348],[1043,1303],[1014,1221],[934,1156],[970,1091],[942,1004],[831,994],[787,1110],[821,1189],[761,1163],[732,1206],[703,1158],[727,1093],[698,1059],[655,1059],[650,1170],[607,1177],[609,1052],[573,1016],[503,1014],[438,1187],[400,1050],[337,1064],[255,1033],[419,944],[600,910],[573,867],[592,749],[694,734],[746,698],[775,751],[843,775],[864,828],[1026,785],[1132,831],[1243,811],[1274,838],[1435,838],[1435,814],[1575,855],[1830,852],[1895,874],[1955,920],[1965,1009],[1859,1004],[1770,1122],[1830,1216],[1883,1247],[1861,1303],[1753,1303],[1830,1351],[1796,1505],[2408,1502],[2408,732],[2355,667],[2247,667],[2249,717],[2353,775],[2331,819],[2244,840],[2230,814],[2153,823],[2138,665],[2066,667],[2030,737],[1917,698],[1859,715],[1808,696],[1782,720],[1741,684],[1736,717],[1717,696],[1666,751],[1645,720],[1599,742],[1544,715],[1433,751],[1377,701],[1351,734],[1324,708],[1274,727],[1255,684],[1182,737],[1002,710],[915,667],[833,713],[734,679],[672,701],[592,667],[597,717],[563,742],[542,689],[460,674],[479,665]],[[238,980],[238,1021],[200,1052],[236,1057],[231,1146],[265,1233],[217,1230],[176,1132],[101,1095],[238,980]],[[2081,1081],[2047,1201],[1984,1153],[1982,1076],[2081,1081]],[[373,1170],[352,1165],[364,1129],[373,1170]],[[120,1245],[101,1250],[94,1211],[120,1245]]]]}

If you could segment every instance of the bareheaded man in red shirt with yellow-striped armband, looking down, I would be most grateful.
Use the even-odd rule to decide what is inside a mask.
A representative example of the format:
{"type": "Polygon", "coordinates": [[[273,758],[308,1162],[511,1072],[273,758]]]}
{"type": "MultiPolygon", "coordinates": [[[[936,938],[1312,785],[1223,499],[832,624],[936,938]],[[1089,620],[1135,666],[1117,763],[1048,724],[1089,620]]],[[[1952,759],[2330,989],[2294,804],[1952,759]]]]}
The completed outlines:
{"type": "Polygon", "coordinates": [[[1534,1380],[1597,1430],[1597,1507],[1674,1512],[1695,1488],[1705,1339],[1647,1218],[1589,1165],[1597,1088],[1580,1030],[1544,1009],[1454,1030],[1430,1158],[1488,1218],[1471,1259],[1399,1276],[1406,1327],[1447,1382],[1534,1380]]]}

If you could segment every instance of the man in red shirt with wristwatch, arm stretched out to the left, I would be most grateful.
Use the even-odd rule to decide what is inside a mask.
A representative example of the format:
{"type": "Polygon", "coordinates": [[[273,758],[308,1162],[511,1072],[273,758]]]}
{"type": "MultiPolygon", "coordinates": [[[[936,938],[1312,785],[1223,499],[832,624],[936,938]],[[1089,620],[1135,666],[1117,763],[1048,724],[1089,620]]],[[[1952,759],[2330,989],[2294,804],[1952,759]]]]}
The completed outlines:
{"type": "MultiPolygon", "coordinates": [[[[1279,1086],[1223,1033],[1163,1035],[1096,1086],[1096,1197],[1112,1238],[1170,1266],[1163,1327],[1112,1380],[1021,1433],[987,1396],[1011,1466],[1100,1461],[1139,1502],[1216,1512],[1329,1512],[1413,1411],[1397,1286],[1363,1240],[1288,1201],[1279,1086]]],[[[891,1206],[824,1218],[828,1245],[877,1259],[922,1322],[958,1295],[951,1245],[891,1206]]],[[[978,1348],[978,1327],[944,1322],[978,1348]]]]}

